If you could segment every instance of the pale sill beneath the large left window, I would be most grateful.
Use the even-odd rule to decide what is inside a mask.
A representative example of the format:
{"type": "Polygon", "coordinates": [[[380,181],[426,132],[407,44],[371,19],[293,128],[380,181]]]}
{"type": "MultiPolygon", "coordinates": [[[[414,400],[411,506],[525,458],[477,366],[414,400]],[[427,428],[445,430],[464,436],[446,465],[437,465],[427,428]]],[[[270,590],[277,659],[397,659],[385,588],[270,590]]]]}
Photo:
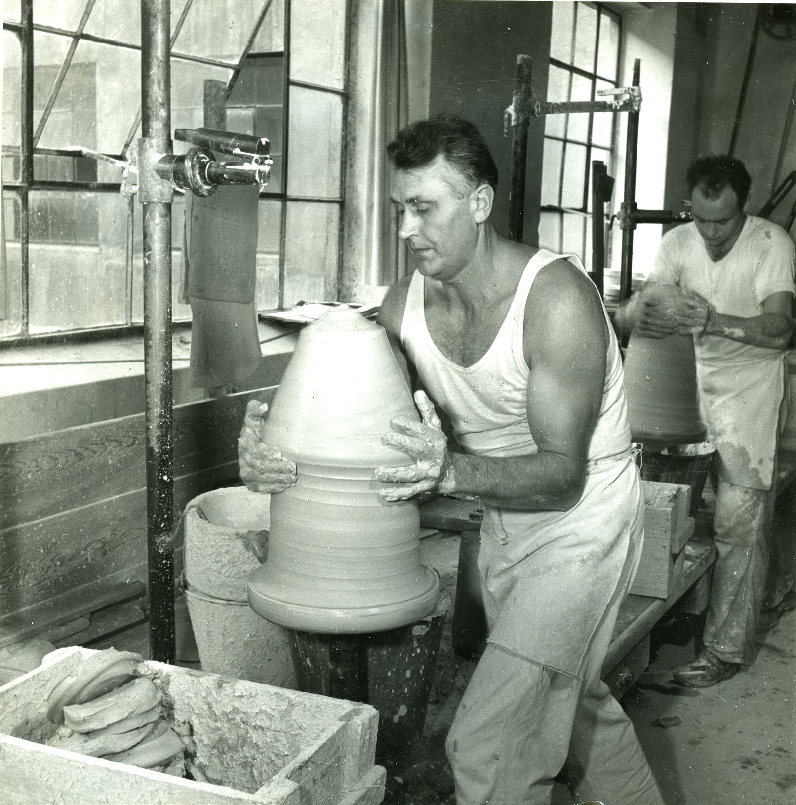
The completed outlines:
{"type": "MultiPolygon", "coordinates": [[[[235,391],[274,386],[295,348],[294,326],[259,322],[262,361],[235,391]]],[[[208,398],[189,385],[191,332],[172,336],[174,404],[208,398]]],[[[142,336],[0,350],[0,444],[144,410],[142,336]]]]}

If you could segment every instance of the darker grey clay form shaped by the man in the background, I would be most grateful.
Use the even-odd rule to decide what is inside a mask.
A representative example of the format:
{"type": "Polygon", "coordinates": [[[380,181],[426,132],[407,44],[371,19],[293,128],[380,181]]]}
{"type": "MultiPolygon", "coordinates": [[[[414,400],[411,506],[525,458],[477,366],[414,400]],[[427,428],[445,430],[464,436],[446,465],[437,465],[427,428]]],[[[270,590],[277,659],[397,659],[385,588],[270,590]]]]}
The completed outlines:
{"type": "Polygon", "coordinates": [[[690,444],[705,438],[692,336],[634,332],[625,356],[625,392],[633,439],[690,444]]]}

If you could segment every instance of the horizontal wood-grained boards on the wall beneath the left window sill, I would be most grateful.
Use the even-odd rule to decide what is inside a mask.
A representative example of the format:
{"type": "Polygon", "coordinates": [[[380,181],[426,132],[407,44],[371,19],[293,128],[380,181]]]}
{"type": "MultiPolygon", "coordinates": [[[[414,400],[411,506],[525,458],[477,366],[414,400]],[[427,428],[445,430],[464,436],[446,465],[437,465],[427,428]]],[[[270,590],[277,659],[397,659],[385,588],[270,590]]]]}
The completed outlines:
{"type": "MultiPolygon", "coordinates": [[[[274,390],[175,407],[175,532],[193,497],[238,482],[246,403],[274,390]]],[[[0,445],[0,617],[142,563],[142,415],[0,445]]]]}

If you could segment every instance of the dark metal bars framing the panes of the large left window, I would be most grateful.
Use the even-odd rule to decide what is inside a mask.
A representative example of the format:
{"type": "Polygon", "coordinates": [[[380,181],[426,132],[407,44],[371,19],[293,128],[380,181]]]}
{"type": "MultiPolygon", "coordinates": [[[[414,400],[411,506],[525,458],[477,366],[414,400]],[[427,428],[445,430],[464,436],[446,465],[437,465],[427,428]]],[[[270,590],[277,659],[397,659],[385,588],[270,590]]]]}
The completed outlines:
{"type": "MultiPolygon", "coordinates": [[[[171,34],[172,46],[175,43],[180,31],[182,30],[185,19],[188,17],[194,0],[186,0],[185,5],[180,13],[179,19],[175,24],[174,31],[171,34]]],[[[207,64],[209,66],[221,67],[231,70],[229,77],[229,84],[227,94],[231,93],[245,60],[250,55],[251,48],[253,47],[254,40],[258,36],[258,32],[262,27],[263,21],[266,19],[266,14],[273,5],[274,0],[266,0],[262,6],[262,12],[257,23],[254,25],[250,39],[246,44],[239,60],[236,63],[226,62],[217,59],[212,59],[204,56],[195,56],[186,54],[179,51],[172,51],[171,57],[179,60],[187,60],[197,62],[200,64],[207,64]]],[[[344,75],[343,88],[328,87],[324,85],[310,84],[305,81],[298,81],[291,78],[291,6],[296,0],[285,0],[284,2],[284,39],[283,50],[280,52],[267,52],[269,56],[282,56],[284,64],[284,77],[283,77],[283,173],[282,173],[282,189],[281,191],[270,191],[268,189],[260,193],[260,198],[263,200],[271,199],[278,200],[281,204],[281,229],[279,232],[279,272],[278,272],[278,308],[283,307],[284,303],[284,287],[285,287],[285,251],[286,251],[286,221],[287,221],[287,205],[291,201],[311,202],[321,204],[336,204],[340,207],[340,221],[343,217],[343,199],[344,199],[344,181],[345,173],[341,170],[340,173],[340,193],[333,198],[326,197],[311,197],[311,196],[295,196],[287,193],[288,181],[290,176],[290,159],[289,159],[289,144],[290,144],[290,97],[292,87],[305,87],[307,89],[315,90],[320,93],[332,93],[340,96],[342,101],[342,137],[340,142],[340,159],[341,165],[345,163],[345,121],[348,112],[348,75],[344,75]]],[[[52,27],[43,23],[35,23],[33,20],[33,0],[21,0],[20,19],[19,22],[13,19],[3,19],[4,31],[10,31],[19,39],[21,47],[21,111],[22,111],[22,131],[21,142],[19,147],[20,157],[20,171],[19,180],[4,180],[2,184],[2,192],[10,194],[15,200],[19,200],[20,220],[19,220],[19,246],[21,248],[21,264],[22,264],[22,281],[21,281],[21,295],[22,295],[22,309],[21,309],[21,329],[14,335],[0,336],[0,349],[6,346],[18,346],[26,344],[38,343],[60,343],[64,341],[80,341],[86,339],[95,339],[102,337],[113,337],[120,335],[141,334],[143,332],[143,324],[135,323],[133,320],[133,298],[132,298],[132,272],[134,263],[134,249],[132,246],[132,237],[134,229],[134,220],[132,215],[128,215],[128,254],[126,260],[126,270],[128,273],[126,282],[126,324],[113,324],[109,326],[97,326],[92,328],[76,328],[70,330],[59,330],[57,332],[43,332],[31,333],[30,332],[30,246],[31,246],[31,200],[30,192],[37,190],[66,190],[73,192],[120,192],[122,187],[121,174],[119,182],[99,182],[99,181],[56,181],[56,180],[43,180],[36,179],[33,170],[33,159],[35,156],[52,155],[52,156],[68,156],[75,158],[74,153],[64,149],[58,148],[45,148],[39,147],[39,138],[43,134],[44,128],[47,125],[49,114],[52,111],[53,105],[56,103],[56,98],[60,91],[60,87],[64,82],[64,77],[72,63],[72,56],[76,52],[77,46],[80,41],[86,40],[89,42],[101,43],[112,45],[113,47],[122,47],[131,50],[141,51],[140,44],[127,43],[115,39],[108,39],[103,36],[88,34],[85,32],[85,26],[89,22],[90,12],[93,9],[93,0],[85,0],[85,6],[76,30],[68,31],[58,27],[52,27]],[[60,65],[56,81],[52,85],[47,102],[44,105],[43,114],[38,124],[34,129],[34,60],[33,60],[33,37],[34,31],[41,31],[44,33],[51,33],[61,35],[71,39],[66,57],[60,65]]],[[[350,5],[347,6],[346,14],[350,14],[350,5]]],[[[348,29],[348,25],[346,25],[348,29]]],[[[345,52],[348,50],[348,37],[344,43],[345,52]]],[[[256,52],[252,55],[265,56],[266,52],[256,52]]],[[[136,134],[138,126],[141,121],[141,110],[138,109],[133,125],[130,128],[122,149],[121,154],[109,155],[113,159],[120,159],[127,161],[129,159],[130,151],[135,146],[136,134]]],[[[138,204],[136,198],[132,198],[130,204],[138,204]]],[[[138,212],[140,214],[140,212],[138,212]]],[[[6,237],[8,233],[6,232],[6,237]]],[[[342,227],[340,226],[340,236],[342,237],[342,227]]],[[[338,249],[338,254],[340,250],[338,249]]],[[[140,266],[139,266],[140,270],[140,266]]],[[[14,287],[13,292],[19,292],[19,286],[14,287]]],[[[10,287],[7,288],[9,295],[12,292],[10,287]]],[[[175,326],[179,324],[188,324],[185,320],[175,320],[175,326]]]]}

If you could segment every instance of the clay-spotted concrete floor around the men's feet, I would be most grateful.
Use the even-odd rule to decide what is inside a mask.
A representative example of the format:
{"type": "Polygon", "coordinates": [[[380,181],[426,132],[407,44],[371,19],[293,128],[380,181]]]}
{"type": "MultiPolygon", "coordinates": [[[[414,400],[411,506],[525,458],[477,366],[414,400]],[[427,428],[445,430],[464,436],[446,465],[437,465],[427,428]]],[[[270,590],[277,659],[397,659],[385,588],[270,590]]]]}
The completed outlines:
{"type": "MultiPolygon", "coordinates": [[[[793,533],[796,492],[778,506],[777,527],[793,533]]],[[[456,587],[458,535],[422,540],[423,562],[456,587]]],[[[451,646],[448,613],[418,762],[388,770],[387,805],[455,805],[444,739],[475,667],[451,646]]],[[[796,802],[796,612],[761,636],[753,666],[716,687],[683,690],[670,668],[695,654],[700,618],[680,615],[652,634],[652,661],[622,704],[633,720],[667,805],[793,805],[796,802]]],[[[146,654],[146,627],[106,638],[92,647],[146,654]]],[[[183,663],[181,663],[183,664],[183,663]]],[[[187,664],[187,663],[186,663],[187,664]]],[[[553,805],[571,805],[556,786],[553,805]]],[[[510,803],[496,803],[510,805],[510,803]]],[[[607,803],[623,805],[623,803],[607,803]]]]}

